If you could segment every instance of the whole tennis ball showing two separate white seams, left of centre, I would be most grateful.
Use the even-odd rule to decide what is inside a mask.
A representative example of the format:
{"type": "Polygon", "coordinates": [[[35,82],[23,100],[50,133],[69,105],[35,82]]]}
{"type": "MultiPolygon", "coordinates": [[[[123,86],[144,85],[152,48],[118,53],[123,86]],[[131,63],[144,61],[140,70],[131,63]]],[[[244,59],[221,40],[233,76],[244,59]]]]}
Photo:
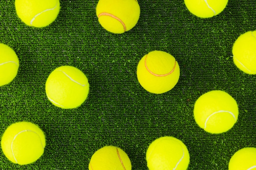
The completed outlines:
{"type": "Polygon", "coordinates": [[[88,96],[87,77],[78,68],[60,66],[46,80],[45,91],[48,99],[60,108],[76,108],[88,96]]]}

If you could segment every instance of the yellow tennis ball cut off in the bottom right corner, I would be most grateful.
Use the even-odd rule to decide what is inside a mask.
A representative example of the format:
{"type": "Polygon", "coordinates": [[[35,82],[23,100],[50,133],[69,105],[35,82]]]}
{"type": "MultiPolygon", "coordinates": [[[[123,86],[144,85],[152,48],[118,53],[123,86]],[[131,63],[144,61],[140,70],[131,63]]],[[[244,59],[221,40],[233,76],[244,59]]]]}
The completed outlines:
{"type": "Polygon", "coordinates": [[[229,170],[256,170],[256,148],[238,150],[229,161],[229,170]]]}

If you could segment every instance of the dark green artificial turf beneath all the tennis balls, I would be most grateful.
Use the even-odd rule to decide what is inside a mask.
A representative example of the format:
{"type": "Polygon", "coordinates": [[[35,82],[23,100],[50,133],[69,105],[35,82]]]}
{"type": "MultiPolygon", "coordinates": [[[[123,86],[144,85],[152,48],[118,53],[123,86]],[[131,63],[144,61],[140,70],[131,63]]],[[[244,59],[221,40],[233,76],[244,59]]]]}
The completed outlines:
{"type": "Polygon", "coordinates": [[[14,0],[0,1],[0,43],[18,55],[17,77],[0,87],[0,134],[17,121],[31,121],[45,132],[46,147],[35,163],[19,166],[0,153],[2,170],[84,170],[93,153],[107,145],[122,148],[133,170],[147,170],[148,145],[173,136],[190,153],[188,170],[227,170],[231,156],[256,147],[256,76],[233,63],[239,35],[256,30],[256,4],[229,0],[219,15],[201,19],[182,0],[139,0],[137,25],[123,34],[104,30],[97,0],[61,0],[58,18],[45,28],[26,26],[14,0]],[[180,79],[167,93],[148,93],[136,68],[150,51],[171,53],[180,79]],[[79,108],[53,106],[45,81],[58,66],[79,68],[89,79],[88,99],[79,108]],[[195,123],[200,95],[222,90],[236,99],[239,117],[228,132],[212,135],[195,123]]]}

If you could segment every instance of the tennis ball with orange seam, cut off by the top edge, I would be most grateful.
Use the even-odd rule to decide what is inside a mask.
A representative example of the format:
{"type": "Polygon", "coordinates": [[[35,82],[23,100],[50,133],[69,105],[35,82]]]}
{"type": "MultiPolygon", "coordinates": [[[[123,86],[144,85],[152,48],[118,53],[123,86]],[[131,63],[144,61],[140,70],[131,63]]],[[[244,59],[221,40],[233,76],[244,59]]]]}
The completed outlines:
{"type": "Polygon", "coordinates": [[[139,20],[137,0],[99,0],[96,14],[104,29],[112,33],[124,33],[139,20]]]}

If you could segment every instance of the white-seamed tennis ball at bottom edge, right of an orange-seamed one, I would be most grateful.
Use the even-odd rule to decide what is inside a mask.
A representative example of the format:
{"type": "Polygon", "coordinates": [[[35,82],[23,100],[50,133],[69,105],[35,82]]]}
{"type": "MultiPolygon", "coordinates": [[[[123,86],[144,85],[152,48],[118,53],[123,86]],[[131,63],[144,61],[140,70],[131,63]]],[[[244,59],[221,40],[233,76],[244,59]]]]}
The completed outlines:
{"type": "Polygon", "coordinates": [[[149,145],[146,160],[149,170],[186,170],[189,151],[175,137],[160,137],[149,145]]]}

